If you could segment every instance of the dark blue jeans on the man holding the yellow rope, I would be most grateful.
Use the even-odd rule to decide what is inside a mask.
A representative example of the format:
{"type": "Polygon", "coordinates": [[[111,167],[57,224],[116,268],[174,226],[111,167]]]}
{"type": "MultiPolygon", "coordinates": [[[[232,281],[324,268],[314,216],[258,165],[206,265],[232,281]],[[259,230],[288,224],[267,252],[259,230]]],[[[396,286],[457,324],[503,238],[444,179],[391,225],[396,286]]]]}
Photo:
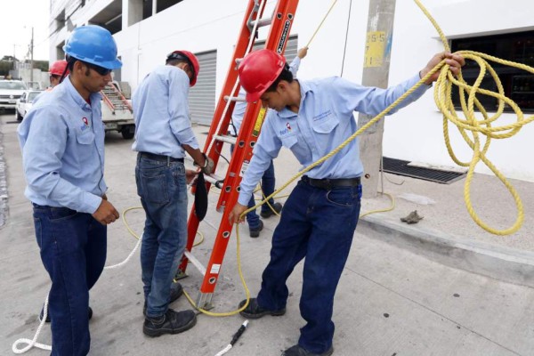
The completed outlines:
{"type": "Polygon", "coordinates": [[[307,324],[298,344],[322,353],[334,337],[334,295],[360,214],[361,186],[323,190],[300,181],[287,199],[272,236],[271,261],[263,271],[258,304],[286,307],[286,280],[304,257],[300,311],[307,324]]]}

